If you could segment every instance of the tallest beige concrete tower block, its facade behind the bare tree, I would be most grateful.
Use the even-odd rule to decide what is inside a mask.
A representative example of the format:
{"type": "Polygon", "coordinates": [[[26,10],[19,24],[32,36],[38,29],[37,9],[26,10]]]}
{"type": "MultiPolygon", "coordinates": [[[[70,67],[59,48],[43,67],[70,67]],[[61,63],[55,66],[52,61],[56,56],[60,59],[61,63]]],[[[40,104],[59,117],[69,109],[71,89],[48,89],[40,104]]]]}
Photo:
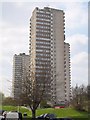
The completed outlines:
{"type": "Polygon", "coordinates": [[[46,66],[47,93],[53,104],[70,101],[70,49],[64,42],[64,18],[62,10],[44,7],[35,8],[30,19],[30,70],[40,79],[46,66]]]}

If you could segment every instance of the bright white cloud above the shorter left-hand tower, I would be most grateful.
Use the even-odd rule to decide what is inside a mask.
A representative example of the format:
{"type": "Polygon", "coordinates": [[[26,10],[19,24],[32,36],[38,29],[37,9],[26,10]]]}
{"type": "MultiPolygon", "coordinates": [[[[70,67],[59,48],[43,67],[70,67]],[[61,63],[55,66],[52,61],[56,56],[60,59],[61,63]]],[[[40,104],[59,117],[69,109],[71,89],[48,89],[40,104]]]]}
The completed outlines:
{"type": "Polygon", "coordinates": [[[29,42],[29,28],[27,26],[9,26],[8,23],[4,23],[4,26],[2,25],[1,34],[1,50],[3,53],[7,52],[6,49],[10,51],[15,50],[14,48],[16,48],[16,51],[20,48],[22,50],[26,49],[25,46],[29,42]]]}

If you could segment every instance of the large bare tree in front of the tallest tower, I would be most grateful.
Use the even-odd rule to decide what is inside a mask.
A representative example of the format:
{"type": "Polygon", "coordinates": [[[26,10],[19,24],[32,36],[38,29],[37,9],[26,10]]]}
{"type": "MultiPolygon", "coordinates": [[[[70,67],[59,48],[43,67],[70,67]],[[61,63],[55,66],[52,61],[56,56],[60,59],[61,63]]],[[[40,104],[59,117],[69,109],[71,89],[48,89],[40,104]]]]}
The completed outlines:
{"type": "Polygon", "coordinates": [[[46,97],[46,86],[50,76],[47,75],[46,65],[42,66],[42,76],[36,76],[34,71],[26,72],[22,85],[21,99],[23,104],[29,105],[32,118],[36,117],[36,109],[46,97]]]}

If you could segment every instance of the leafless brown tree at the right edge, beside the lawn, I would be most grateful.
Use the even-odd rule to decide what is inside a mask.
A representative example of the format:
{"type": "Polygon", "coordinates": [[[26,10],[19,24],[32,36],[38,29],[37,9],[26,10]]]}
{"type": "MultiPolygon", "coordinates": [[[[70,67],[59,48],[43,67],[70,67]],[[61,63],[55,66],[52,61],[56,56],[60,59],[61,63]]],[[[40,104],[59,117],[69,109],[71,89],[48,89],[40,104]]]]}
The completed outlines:
{"type": "Polygon", "coordinates": [[[74,107],[76,107],[79,110],[87,109],[87,101],[88,101],[88,94],[87,94],[87,87],[84,85],[78,86],[76,85],[75,88],[73,88],[73,100],[72,104],[74,107]]]}

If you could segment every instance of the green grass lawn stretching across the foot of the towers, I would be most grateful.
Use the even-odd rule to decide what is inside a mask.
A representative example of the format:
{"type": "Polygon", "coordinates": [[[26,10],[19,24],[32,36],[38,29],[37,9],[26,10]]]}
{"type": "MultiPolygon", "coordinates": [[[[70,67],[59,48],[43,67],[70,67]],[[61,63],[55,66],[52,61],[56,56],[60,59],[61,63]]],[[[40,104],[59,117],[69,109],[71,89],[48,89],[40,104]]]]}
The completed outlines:
{"type": "MultiPolygon", "coordinates": [[[[21,113],[27,113],[28,116],[31,117],[31,111],[24,107],[18,108],[15,106],[3,106],[2,109],[6,111],[20,110],[21,113]]],[[[71,117],[71,118],[75,118],[75,120],[88,120],[87,112],[80,112],[80,111],[75,110],[74,108],[61,108],[61,109],[47,108],[47,109],[38,109],[36,111],[37,116],[44,114],[44,113],[54,113],[59,118],[71,117]],[[76,118],[79,118],[79,119],[76,119],[76,118]]]]}

